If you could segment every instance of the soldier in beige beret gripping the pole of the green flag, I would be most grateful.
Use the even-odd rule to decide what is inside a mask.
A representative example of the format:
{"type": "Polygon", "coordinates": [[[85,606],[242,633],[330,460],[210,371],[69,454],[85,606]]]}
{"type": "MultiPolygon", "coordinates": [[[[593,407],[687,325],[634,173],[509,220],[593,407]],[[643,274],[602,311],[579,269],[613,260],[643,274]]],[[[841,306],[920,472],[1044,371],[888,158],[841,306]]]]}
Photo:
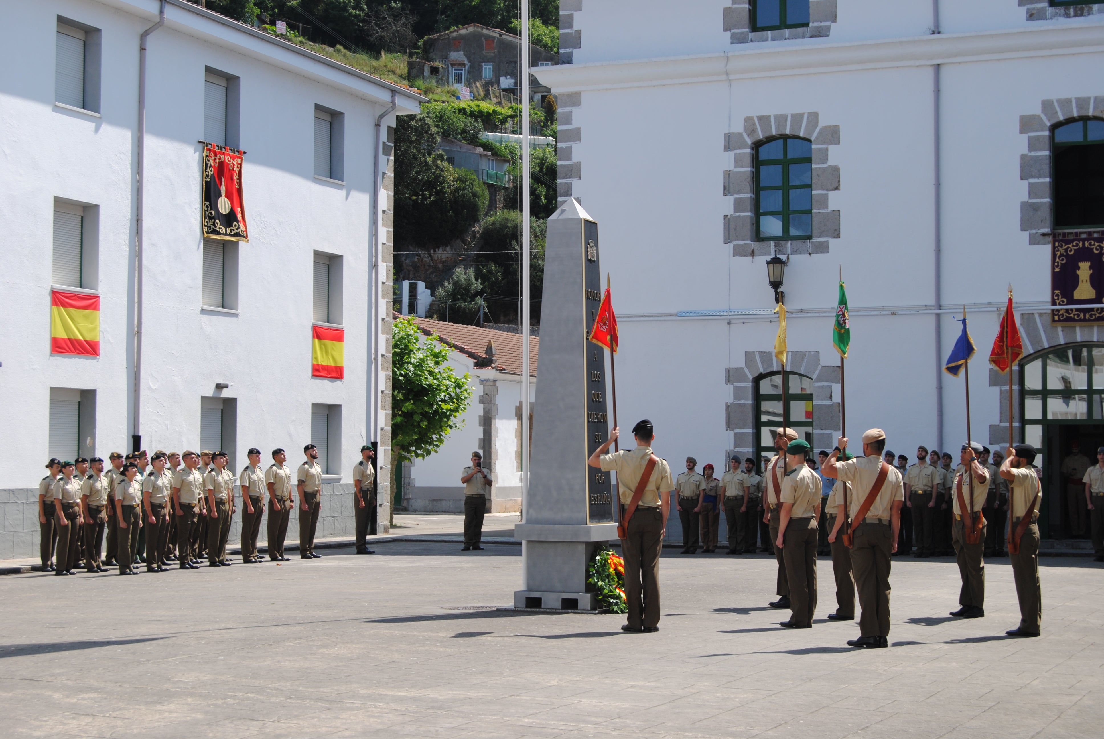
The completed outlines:
{"type": "Polygon", "coordinates": [[[825,475],[851,483],[848,496],[851,518],[851,568],[859,590],[861,636],[848,646],[887,647],[890,633],[890,567],[896,550],[904,489],[901,474],[882,462],[885,432],[871,429],[862,434],[862,458],[836,462],[847,439],[825,463],[825,475]]]}

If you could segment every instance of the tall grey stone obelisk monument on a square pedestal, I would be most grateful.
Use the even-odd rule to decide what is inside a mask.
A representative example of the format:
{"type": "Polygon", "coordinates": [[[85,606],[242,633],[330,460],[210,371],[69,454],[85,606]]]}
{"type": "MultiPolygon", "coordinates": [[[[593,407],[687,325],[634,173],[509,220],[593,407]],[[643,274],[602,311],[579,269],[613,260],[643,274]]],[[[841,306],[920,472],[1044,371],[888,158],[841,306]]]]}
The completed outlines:
{"type": "Polygon", "coordinates": [[[526,522],[513,528],[524,570],[514,608],[596,610],[586,564],[617,538],[611,473],[586,465],[609,433],[605,349],[587,340],[602,287],[598,224],[569,199],[549,219],[545,242],[529,497],[526,522]]]}

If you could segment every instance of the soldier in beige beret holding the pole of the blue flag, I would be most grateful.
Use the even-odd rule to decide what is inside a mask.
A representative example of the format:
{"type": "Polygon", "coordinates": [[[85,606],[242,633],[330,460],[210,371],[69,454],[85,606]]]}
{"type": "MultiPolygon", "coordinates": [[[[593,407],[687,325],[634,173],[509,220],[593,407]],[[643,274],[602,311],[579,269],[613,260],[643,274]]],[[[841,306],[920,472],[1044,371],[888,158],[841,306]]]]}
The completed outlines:
{"type": "Polygon", "coordinates": [[[989,471],[978,458],[983,450],[984,447],[977,442],[963,444],[962,460],[955,469],[952,488],[955,515],[952,536],[963,587],[958,593],[958,604],[962,608],[952,611],[951,615],[962,619],[985,616],[985,525],[981,525],[977,541],[970,543],[967,539],[978,517],[981,516],[981,506],[985,505],[985,498],[989,494],[989,471]],[[967,469],[974,475],[973,500],[969,478],[966,476],[967,469]],[[974,511],[973,519],[970,510],[974,511]]]}

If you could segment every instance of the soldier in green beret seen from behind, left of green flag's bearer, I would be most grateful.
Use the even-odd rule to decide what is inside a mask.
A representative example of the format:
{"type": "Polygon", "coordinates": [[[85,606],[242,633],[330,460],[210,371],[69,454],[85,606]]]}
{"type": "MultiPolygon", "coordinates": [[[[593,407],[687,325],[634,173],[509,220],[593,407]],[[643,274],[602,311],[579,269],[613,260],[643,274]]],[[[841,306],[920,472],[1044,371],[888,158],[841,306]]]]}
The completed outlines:
{"type": "Polygon", "coordinates": [[[790,616],[786,629],[811,629],[817,610],[817,538],[820,518],[820,478],[805,464],[809,443],[798,439],[786,446],[789,471],[782,481],[778,538],[789,585],[790,616]]]}

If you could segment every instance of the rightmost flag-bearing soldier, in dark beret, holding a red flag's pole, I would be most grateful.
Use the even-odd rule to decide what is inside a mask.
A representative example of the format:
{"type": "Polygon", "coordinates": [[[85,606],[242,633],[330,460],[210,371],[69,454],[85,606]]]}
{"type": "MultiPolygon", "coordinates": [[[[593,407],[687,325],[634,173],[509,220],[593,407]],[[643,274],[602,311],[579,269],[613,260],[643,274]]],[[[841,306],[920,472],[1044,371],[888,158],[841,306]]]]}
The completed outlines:
{"type": "Polygon", "coordinates": [[[1000,465],[1000,476],[1009,482],[1008,557],[1020,601],[1020,625],[1005,633],[1009,636],[1038,636],[1042,623],[1042,588],[1039,584],[1039,505],[1042,488],[1031,464],[1036,451],[1030,444],[1008,450],[1000,465]]]}

